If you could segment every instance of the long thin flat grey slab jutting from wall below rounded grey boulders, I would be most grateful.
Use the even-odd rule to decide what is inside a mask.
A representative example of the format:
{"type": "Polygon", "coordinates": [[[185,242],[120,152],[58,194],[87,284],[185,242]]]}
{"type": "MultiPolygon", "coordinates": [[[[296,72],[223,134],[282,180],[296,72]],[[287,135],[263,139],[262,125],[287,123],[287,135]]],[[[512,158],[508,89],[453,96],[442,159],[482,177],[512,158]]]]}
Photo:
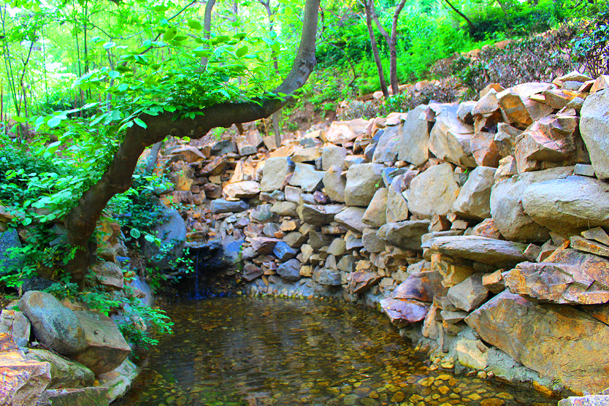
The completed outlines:
{"type": "Polygon", "coordinates": [[[527,244],[481,236],[452,236],[429,239],[421,247],[502,268],[526,261],[523,253],[527,244]]]}

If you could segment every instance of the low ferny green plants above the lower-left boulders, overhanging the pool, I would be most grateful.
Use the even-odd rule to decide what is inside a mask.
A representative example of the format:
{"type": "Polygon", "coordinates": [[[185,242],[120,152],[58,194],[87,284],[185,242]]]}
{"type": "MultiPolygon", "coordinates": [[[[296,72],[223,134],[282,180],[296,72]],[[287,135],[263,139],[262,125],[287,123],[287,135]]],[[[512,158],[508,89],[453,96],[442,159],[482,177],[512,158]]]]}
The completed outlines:
{"type": "Polygon", "coordinates": [[[151,333],[171,334],[174,323],[169,320],[163,310],[143,306],[133,296],[133,292],[117,295],[97,287],[79,292],[76,284],[53,284],[44,292],[51,293],[58,299],[69,298],[85,303],[91,310],[97,310],[105,315],[119,313],[116,324],[125,340],[132,345],[146,349],[149,345],[157,345],[158,340],[151,333]]]}

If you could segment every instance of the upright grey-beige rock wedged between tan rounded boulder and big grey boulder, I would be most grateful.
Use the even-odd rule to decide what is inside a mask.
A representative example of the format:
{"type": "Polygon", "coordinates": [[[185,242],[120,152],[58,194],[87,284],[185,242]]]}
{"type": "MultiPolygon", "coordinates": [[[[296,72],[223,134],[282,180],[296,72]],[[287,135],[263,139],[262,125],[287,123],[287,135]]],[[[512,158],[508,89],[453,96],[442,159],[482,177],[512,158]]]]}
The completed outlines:
{"type": "Polygon", "coordinates": [[[452,205],[452,211],[468,219],[488,219],[491,216],[491,187],[495,183],[495,168],[479,166],[471,171],[452,205]]]}

